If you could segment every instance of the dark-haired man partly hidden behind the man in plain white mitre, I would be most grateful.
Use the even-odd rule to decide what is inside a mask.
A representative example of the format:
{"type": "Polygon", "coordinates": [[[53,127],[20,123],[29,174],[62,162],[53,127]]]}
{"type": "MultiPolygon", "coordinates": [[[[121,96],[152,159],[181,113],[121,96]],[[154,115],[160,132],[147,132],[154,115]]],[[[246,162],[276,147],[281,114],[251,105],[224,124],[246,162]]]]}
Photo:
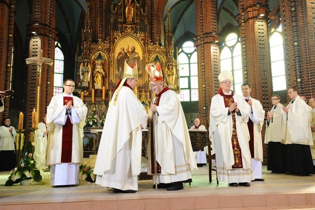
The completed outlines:
{"type": "Polygon", "coordinates": [[[265,119],[265,110],[260,102],[251,97],[252,86],[245,82],[241,86],[245,101],[251,106],[250,119],[247,126],[250,132],[250,150],[252,156],[252,171],[254,174],[253,181],[264,181],[262,178],[262,138],[261,130],[265,119]]]}

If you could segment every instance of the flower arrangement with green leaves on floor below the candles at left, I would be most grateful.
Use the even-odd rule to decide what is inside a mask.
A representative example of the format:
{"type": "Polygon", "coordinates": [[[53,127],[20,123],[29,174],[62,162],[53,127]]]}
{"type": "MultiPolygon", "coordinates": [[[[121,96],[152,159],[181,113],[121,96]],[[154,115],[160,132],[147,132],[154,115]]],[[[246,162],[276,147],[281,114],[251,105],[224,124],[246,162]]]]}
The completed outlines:
{"type": "Polygon", "coordinates": [[[33,179],[34,181],[42,180],[40,171],[36,169],[36,161],[33,158],[34,148],[30,141],[26,141],[23,150],[23,157],[17,168],[11,170],[11,175],[5,182],[5,186],[12,186],[15,183],[19,183],[23,180],[33,179]]]}

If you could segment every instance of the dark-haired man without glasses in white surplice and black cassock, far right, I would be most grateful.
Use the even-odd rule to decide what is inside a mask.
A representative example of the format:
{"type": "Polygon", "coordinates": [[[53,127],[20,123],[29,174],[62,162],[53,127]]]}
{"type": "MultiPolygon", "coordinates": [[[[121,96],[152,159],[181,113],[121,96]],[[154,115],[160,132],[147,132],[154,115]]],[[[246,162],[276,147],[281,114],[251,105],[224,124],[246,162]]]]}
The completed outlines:
{"type": "Polygon", "coordinates": [[[291,99],[282,107],[282,139],[286,144],[286,174],[309,176],[313,174],[313,160],[310,146],[313,145],[311,119],[312,110],[298,95],[296,87],[287,90],[291,99]]]}

